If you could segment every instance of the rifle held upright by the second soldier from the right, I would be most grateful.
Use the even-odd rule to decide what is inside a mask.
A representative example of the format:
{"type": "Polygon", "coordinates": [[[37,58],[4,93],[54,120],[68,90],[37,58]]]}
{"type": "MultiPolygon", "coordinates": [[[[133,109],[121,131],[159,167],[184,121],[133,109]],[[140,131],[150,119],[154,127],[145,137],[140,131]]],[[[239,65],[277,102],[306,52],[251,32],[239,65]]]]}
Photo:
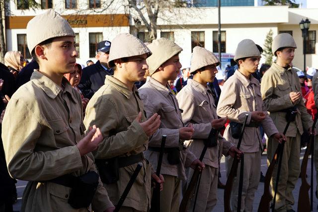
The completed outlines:
{"type": "MultiPolygon", "coordinates": [[[[237,146],[238,149],[240,147],[240,143],[241,143],[242,138],[243,138],[247,118],[248,118],[248,114],[245,114],[243,127],[241,130],[241,133],[239,134],[239,142],[238,142],[238,146],[237,146]]],[[[239,166],[239,159],[234,157],[233,163],[231,166],[231,171],[230,171],[230,174],[228,176],[227,184],[225,185],[225,190],[224,190],[224,212],[232,212],[231,206],[230,206],[231,193],[232,193],[234,177],[237,176],[238,166],[239,166]]]]}

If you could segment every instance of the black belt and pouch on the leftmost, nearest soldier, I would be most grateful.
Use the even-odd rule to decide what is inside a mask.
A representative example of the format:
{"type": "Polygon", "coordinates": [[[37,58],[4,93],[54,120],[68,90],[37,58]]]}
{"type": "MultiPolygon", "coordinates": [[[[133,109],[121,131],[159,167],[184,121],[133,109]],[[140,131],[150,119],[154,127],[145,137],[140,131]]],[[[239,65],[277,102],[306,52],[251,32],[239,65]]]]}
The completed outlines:
{"type": "Polygon", "coordinates": [[[66,174],[52,180],[40,181],[51,182],[72,188],[68,203],[75,209],[88,208],[98,186],[99,176],[94,171],[75,177],[66,174]]]}

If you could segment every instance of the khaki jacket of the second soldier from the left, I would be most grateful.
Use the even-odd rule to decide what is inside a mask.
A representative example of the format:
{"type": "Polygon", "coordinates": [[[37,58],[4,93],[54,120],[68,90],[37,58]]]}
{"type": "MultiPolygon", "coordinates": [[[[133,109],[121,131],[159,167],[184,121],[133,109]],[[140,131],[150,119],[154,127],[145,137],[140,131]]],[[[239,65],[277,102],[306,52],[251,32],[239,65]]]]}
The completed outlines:
{"type": "MultiPolygon", "coordinates": [[[[128,89],[120,80],[106,76],[105,84],[89,100],[84,119],[86,127],[92,124],[98,126],[104,138],[93,152],[96,159],[136,155],[148,148],[148,136],[135,121],[140,111],[143,113],[142,122],[145,122],[144,105],[137,88],[128,89]]],[[[147,211],[151,198],[151,166],[146,160],[143,163],[123,204],[138,211],[147,211]]],[[[120,168],[119,180],[105,185],[114,204],[118,202],[136,166],[137,163],[120,168]]]]}

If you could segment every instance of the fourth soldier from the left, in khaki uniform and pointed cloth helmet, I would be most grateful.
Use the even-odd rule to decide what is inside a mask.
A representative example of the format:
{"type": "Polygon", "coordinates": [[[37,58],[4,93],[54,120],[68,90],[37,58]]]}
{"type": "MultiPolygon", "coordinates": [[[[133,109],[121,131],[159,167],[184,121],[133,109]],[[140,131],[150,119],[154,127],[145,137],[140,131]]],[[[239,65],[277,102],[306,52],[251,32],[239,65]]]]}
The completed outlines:
{"type": "MultiPolygon", "coordinates": [[[[212,83],[215,74],[218,72],[217,66],[220,61],[208,50],[202,47],[194,47],[190,73],[194,74],[193,79],[188,79],[177,94],[176,98],[180,108],[183,110],[182,119],[185,125],[191,123],[194,133],[191,140],[185,141],[186,146],[195,156],[200,157],[204,147],[204,139],[207,139],[211,130],[220,129],[224,126],[227,118],[218,118],[212,91],[207,83],[212,83]]],[[[203,163],[205,169],[202,171],[199,185],[199,193],[195,211],[211,212],[217,203],[217,187],[219,163],[222,154],[234,156],[240,153],[230,142],[226,141],[221,134],[217,146],[208,147],[203,163]]],[[[190,170],[188,180],[191,179],[193,171],[190,170]]],[[[193,207],[194,198],[191,200],[193,207]]],[[[192,207],[188,211],[192,212],[192,207]]]]}

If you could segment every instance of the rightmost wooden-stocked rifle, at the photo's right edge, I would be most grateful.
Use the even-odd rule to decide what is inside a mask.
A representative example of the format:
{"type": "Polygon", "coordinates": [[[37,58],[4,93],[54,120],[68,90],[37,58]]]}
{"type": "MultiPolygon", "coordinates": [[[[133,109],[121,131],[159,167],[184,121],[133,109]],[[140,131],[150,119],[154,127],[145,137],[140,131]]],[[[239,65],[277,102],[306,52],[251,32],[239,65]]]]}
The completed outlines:
{"type": "MultiPolygon", "coordinates": [[[[318,114],[317,114],[318,115],[318,114]]],[[[307,143],[307,148],[306,148],[306,151],[305,151],[305,154],[304,154],[304,158],[303,158],[303,162],[302,162],[302,166],[301,166],[301,177],[302,177],[302,185],[300,187],[300,190],[299,190],[299,199],[298,199],[298,211],[303,211],[303,212],[310,212],[310,211],[313,211],[313,204],[312,204],[312,201],[313,201],[313,166],[311,167],[311,185],[308,184],[307,180],[306,180],[306,172],[307,172],[307,163],[308,163],[308,159],[309,159],[309,155],[311,154],[312,156],[312,159],[313,159],[313,150],[314,150],[314,129],[315,129],[315,125],[317,123],[317,116],[315,117],[315,120],[314,120],[314,124],[313,124],[313,127],[312,127],[312,133],[310,135],[310,141],[309,143],[307,143]],[[309,195],[308,195],[308,191],[309,189],[311,189],[311,202],[309,200],[309,195]],[[301,204],[301,205],[300,205],[301,204]]],[[[313,161],[312,161],[312,165],[313,164],[313,161]]]]}

